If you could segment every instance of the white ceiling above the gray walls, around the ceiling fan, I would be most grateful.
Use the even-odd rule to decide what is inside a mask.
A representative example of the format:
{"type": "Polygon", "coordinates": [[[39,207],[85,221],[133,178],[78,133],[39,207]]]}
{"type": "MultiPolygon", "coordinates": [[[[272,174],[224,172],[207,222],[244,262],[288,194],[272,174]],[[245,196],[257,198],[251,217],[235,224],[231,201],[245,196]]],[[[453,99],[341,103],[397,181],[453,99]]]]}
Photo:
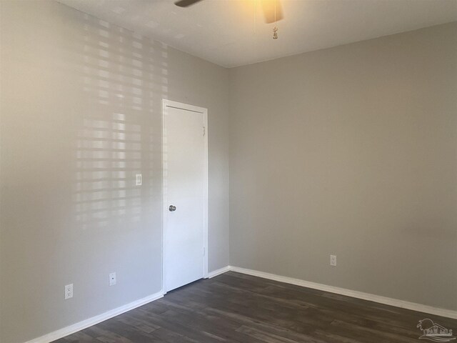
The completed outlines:
{"type": "Polygon", "coordinates": [[[281,0],[273,40],[262,0],[58,1],[226,67],[457,21],[457,0],[281,0]]]}

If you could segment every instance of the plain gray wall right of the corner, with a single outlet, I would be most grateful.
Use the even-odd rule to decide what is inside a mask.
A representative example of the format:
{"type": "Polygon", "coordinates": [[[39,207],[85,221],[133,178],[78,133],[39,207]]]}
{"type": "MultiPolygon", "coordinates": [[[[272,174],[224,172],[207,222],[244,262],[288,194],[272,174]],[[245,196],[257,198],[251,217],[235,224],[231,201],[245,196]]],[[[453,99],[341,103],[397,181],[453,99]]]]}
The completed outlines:
{"type": "Polygon", "coordinates": [[[456,94],[457,23],[231,69],[231,265],[456,310],[456,94]]]}

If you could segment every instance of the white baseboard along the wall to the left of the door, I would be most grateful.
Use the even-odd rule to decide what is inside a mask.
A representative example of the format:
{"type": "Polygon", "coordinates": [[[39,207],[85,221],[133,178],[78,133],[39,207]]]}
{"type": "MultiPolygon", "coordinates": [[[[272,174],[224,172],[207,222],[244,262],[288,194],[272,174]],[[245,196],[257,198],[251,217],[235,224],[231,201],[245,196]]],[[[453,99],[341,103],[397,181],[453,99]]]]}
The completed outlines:
{"type": "Polygon", "coordinates": [[[134,302],[131,302],[130,304],[126,304],[116,309],[111,309],[111,311],[83,320],[82,322],[70,325],[69,327],[64,327],[63,329],[59,329],[49,334],[45,334],[44,336],[38,337],[36,339],[31,339],[31,341],[26,343],[49,343],[55,341],[56,339],[66,337],[69,334],[74,334],[74,332],[78,332],[82,329],[86,329],[87,327],[91,327],[92,325],[104,322],[106,319],[119,316],[119,314],[128,312],[131,309],[136,309],[136,307],[143,306],[144,304],[148,304],[149,302],[154,302],[154,300],[160,299],[161,297],[164,297],[164,292],[162,291],[157,292],[156,294],[151,294],[148,297],[136,300],[134,302]]]}

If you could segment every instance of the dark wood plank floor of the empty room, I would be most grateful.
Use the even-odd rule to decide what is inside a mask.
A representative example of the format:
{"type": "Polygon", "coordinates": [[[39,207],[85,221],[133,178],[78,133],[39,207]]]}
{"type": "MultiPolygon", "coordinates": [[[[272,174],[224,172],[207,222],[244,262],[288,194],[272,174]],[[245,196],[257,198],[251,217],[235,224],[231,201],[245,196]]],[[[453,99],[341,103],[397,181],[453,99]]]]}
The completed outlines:
{"type": "Polygon", "coordinates": [[[457,333],[456,319],[228,272],[54,342],[418,343],[424,318],[457,333]]]}

